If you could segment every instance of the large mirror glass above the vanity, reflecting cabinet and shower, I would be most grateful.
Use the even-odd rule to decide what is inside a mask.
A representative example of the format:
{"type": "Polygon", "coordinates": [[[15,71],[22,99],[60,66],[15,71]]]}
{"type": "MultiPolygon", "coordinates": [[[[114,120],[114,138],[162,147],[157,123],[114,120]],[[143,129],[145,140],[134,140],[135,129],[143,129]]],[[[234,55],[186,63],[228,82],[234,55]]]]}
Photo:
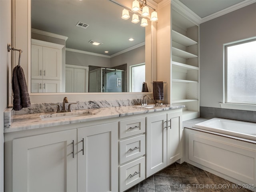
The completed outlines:
{"type": "Polygon", "coordinates": [[[31,0],[31,92],[141,92],[145,28],[132,13],[123,20],[123,9],[110,0],[31,0]]]}

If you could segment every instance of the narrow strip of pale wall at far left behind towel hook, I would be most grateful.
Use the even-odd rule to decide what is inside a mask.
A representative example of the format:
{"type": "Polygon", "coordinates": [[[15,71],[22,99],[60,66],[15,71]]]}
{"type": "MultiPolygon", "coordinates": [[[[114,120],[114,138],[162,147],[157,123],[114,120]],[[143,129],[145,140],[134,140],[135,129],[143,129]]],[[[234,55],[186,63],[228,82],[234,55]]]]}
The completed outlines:
{"type": "Polygon", "coordinates": [[[7,107],[8,65],[11,53],[7,52],[7,44],[11,43],[11,2],[0,0],[0,192],[4,191],[4,110],[7,107]]]}

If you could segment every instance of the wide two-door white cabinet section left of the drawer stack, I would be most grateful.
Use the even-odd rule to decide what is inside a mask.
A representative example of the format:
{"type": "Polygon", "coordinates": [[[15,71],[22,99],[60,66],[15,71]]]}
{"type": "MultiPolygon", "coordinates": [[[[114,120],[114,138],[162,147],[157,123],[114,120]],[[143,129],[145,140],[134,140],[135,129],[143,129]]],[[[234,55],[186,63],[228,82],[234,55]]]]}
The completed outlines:
{"type": "Polygon", "coordinates": [[[5,191],[118,191],[118,122],[51,129],[8,136],[5,191]]]}

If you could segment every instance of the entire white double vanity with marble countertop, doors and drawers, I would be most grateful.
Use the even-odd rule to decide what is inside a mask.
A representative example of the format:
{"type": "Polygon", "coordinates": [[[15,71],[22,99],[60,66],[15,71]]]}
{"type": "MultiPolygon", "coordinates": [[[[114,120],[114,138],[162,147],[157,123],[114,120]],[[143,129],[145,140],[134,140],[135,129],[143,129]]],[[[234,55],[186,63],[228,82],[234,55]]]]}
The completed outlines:
{"type": "Polygon", "coordinates": [[[12,115],[5,191],[123,192],[182,158],[183,107],[78,103],[71,112],[12,115]]]}

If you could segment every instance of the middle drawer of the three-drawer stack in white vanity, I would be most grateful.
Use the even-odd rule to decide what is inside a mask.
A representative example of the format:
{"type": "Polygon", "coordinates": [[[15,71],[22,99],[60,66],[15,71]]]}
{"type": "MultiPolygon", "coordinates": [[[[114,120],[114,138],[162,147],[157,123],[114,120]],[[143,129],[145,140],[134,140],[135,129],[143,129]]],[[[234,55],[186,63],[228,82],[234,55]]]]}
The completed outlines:
{"type": "Polygon", "coordinates": [[[145,154],[145,135],[119,142],[119,163],[123,164],[145,154]]]}

